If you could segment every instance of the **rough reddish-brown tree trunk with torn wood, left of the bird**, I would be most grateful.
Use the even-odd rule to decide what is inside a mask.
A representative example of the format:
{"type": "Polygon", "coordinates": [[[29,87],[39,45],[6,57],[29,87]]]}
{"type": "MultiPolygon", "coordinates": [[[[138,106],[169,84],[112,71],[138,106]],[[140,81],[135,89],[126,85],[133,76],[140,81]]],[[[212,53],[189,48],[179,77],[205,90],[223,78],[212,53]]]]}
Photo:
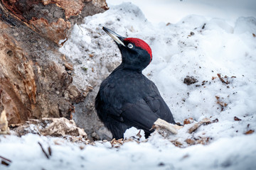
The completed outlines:
{"type": "Polygon", "coordinates": [[[73,65],[58,47],[82,18],[107,10],[105,0],[0,0],[0,114],[70,119],[92,90],[73,84],[73,65]]]}

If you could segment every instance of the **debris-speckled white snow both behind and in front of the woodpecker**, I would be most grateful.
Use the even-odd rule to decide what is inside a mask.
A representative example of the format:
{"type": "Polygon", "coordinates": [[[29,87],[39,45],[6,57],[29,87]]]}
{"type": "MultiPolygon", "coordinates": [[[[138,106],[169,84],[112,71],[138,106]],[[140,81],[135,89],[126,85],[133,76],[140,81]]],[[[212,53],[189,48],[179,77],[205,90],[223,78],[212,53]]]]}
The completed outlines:
{"type": "MultiPolygon", "coordinates": [[[[144,75],[158,86],[176,122],[183,124],[184,119],[193,118],[194,123],[184,125],[177,135],[163,137],[154,132],[148,140],[142,137],[140,142],[116,147],[105,141],[85,145],[60,137],[1,135],[0,156],[12,162],[10,166],[0,164],[0,169],[254,169],[256,133],[245,132],[256,130],[255,15],[241,15],[235,20],[190,15],[166,23],[149,22],[140,8],[130,3],[111,6],[74,26],[60,52],[74,63],[75,84],[81,89],[98,88],[121,60],[117,46],[102,26],[145,40],[152,49],[153,61],[144,75]],[[186,85],[186,76],[198,82],[186,85]],[[241,120],[235,120],[235,116],[241,120]],[[188,133],[203,118],[218,121],[188,133]],[[190,146],[185,142],[207,137],[208,145],[190,146]],[[181,147],[173,141],[180,142],[181,147]],[[50,159],[38,142],[45,149],[50,146],[50,159]]],[[[131,128],[125,137],[133,139],[138,132],[131,128]]]]}

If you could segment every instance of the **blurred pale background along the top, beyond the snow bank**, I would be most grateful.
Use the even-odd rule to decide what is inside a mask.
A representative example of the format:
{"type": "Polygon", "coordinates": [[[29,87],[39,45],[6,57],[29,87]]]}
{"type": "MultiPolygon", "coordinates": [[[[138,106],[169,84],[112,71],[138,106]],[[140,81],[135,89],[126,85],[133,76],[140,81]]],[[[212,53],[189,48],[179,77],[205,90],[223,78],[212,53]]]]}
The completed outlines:
{"type": "Polygon", "coordinates": [[[139,6],[152,23],[177,23],[191,14],[227,21],[235,21],[239,16],[256,17],[256,0],[107,0],[107,4],[111,8],[128,1],[139,6]]]}

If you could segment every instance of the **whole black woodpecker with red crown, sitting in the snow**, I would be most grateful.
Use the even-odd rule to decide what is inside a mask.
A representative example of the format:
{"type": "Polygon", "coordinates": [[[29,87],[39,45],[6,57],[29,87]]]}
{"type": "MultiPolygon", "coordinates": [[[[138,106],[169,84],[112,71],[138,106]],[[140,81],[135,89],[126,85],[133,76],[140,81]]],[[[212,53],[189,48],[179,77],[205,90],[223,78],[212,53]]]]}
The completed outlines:
{"type": "Polygon", "coordinates": [[[156,85],[142,74],[151,62],[149,45],[143,40],[122,38],[112,30],[103,29],[114,38],[122,53],[122,63],[102,81],[95,99],[97,115],[113,138],[122,138],[125,130],[132,126],[144,130],[147,137],[157,118],[175,123],[156,85]]]}

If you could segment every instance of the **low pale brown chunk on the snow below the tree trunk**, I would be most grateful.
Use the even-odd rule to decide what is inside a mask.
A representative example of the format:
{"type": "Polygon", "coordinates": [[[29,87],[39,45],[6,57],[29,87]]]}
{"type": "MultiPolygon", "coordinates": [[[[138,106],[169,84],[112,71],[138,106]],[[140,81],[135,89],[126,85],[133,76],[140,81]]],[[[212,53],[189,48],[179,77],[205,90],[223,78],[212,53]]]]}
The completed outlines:
{"type": "Polygon", "coordinates": [[[75,125],[74,120],[66,118],[42,118],[42,120],[31,119],[24,125],[14,129],[19,136],[27,133],[38,135],[50,135],[53,137],[75,136],[87,138],[87,134],[75,125]]]}

